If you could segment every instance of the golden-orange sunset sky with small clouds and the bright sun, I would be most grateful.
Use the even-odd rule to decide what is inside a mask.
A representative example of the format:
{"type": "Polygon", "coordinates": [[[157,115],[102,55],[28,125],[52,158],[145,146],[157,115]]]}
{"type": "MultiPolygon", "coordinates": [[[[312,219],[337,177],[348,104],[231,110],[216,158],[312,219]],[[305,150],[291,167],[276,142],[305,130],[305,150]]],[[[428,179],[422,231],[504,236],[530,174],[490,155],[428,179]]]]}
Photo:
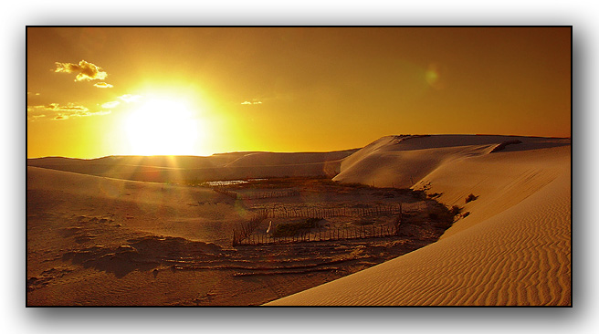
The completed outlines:
{"type": "Polygon", "coordinates": [[[569,27],[28,27],[27,157],[571,136],[569,27]]]}

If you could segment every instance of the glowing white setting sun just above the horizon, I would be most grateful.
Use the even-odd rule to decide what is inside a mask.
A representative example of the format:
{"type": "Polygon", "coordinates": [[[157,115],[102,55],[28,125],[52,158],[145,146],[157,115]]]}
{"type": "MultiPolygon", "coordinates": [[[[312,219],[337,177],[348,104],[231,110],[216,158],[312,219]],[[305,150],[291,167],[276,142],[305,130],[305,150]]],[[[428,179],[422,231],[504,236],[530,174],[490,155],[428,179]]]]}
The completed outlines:
{"type": "Polygon", "coordinates": [[[194,155],[204,129],[182,99],[146,99],[131,110],[124,130],[135,155],[194,155]]]}

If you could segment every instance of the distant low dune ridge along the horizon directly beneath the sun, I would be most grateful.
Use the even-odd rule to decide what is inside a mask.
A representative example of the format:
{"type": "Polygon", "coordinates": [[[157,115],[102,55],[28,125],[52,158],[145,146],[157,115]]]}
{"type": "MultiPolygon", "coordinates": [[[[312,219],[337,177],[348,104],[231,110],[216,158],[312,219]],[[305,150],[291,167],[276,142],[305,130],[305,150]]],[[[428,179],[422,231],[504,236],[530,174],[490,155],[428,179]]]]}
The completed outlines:
{"type": "Polygon", "coordinates": [[[234,152],[209,157],[114,156],[82,160],[49,157],[27,165],[65,172],[156,183],[201,183],[264,177],[332,177],[356,150],[332,152],[234,152]]]}

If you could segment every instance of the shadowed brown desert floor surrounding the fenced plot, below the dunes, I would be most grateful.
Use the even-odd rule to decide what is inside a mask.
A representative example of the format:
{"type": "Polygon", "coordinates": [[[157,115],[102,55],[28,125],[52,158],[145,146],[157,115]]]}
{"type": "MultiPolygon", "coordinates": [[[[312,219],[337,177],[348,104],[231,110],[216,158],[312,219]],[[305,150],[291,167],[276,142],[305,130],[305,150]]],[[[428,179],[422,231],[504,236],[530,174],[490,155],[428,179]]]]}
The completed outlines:
{"type": "MultiPolygon", "coordinates": [[[[264,181],[234,189],[244,194],[280,192],[288,189],[279,188],[284,183],[264,181]]],[[[203,187],[27,167],[26,303],[259,305],[406,254],[442,233],[428,224],[407,231],[416,237],[401,240],[233,247],[233,228],[247,224],[252,210],[275,204],[289,210],[312,204],[436,204],[401,190],[311,179],[288,183],[297,195],[234,200],[203,187]]],[[[280,217],[272,221],[289,222],[280,217]]],[[[268,224],[263,221],[255,235],[266,236],[268,224]]]]}

